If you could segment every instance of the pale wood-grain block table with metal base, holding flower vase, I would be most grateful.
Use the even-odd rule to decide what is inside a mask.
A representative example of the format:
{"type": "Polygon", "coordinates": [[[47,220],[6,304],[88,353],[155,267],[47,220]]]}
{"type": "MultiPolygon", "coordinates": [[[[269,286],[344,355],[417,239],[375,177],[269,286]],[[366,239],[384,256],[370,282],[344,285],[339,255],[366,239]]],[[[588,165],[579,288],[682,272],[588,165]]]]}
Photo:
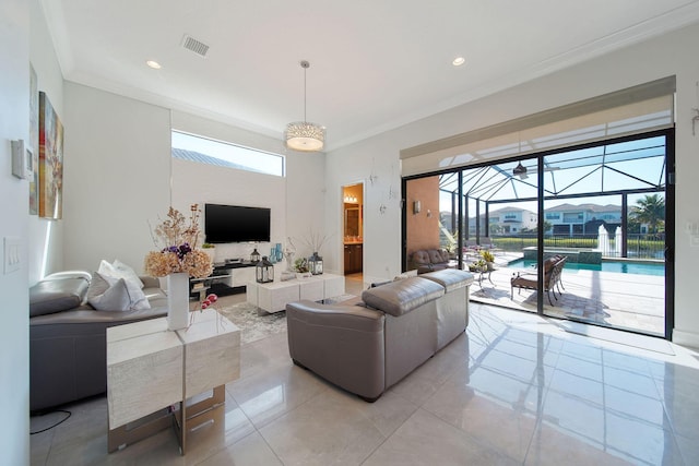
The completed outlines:
{"type": "Polygon", "coordinates": [[[107,328],[110,452],[175,423],[185,454],[188,431],[225,403],[225,384],[240,374],[240,330],[213,309],[191,318],[176,332],[166,318],[107,328]]]}

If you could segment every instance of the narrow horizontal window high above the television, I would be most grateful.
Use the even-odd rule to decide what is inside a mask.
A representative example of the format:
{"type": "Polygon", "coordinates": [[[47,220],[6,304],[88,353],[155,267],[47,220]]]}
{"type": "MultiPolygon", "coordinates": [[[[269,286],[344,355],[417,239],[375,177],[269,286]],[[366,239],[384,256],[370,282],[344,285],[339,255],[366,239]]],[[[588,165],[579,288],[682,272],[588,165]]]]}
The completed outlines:
{"type": "Polygon", "coordinates": [[[283,177],[284,156],[194,134],[173,131],[173,157],[200,164],[283,177]]]}

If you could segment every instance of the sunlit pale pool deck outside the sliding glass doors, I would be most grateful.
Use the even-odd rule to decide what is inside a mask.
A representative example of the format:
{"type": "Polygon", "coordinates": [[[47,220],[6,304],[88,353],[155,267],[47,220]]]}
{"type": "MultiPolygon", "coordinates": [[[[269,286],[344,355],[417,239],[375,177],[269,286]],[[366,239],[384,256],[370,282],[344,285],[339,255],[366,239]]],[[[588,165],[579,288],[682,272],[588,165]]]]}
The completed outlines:
{"type": "MultiPolygon", "coordinates": [[[[490,283],[484,274],[481,283],[471,287],[471,299],[528,312],[536,312],[536,291],[514,288],[510,299],[510,278],[518,272],[534,272],[532,267],[511,267],[509,262],[521,254],[496,254],[497,270],[490,273],[490,283]]],[[[547,315],[595,323],[615,328],[631,330],[650,335],[665,333],[665,277],[656,275],[623,274],[564,268],[565,289],[554,306],[544,296],[547,315]]]]}

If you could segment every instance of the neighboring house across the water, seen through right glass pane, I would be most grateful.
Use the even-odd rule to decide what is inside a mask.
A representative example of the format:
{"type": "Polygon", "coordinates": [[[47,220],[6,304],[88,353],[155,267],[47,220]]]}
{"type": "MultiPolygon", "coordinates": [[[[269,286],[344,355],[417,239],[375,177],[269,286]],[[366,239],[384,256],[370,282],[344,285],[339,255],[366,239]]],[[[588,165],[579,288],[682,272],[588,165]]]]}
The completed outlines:
{"type": "Polygon", "coordinates": [[[561,204],[546,208],[544,219],[554,235],[593,235],[604,224],[609,234],[621,225],[621,206],[607,204],[561,204]]]}

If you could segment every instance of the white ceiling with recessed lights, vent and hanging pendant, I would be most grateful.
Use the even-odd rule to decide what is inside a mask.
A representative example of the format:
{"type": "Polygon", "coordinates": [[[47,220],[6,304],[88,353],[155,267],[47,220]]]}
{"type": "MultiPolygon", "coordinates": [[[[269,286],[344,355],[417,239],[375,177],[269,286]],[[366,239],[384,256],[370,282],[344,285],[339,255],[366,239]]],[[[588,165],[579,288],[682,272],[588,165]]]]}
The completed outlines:
{"type": "Polygon", "coordinates": [[[310,61],[327,150],[699,22],[699,0],[40,1],[66,80],[277,139],[310,61]]]}

